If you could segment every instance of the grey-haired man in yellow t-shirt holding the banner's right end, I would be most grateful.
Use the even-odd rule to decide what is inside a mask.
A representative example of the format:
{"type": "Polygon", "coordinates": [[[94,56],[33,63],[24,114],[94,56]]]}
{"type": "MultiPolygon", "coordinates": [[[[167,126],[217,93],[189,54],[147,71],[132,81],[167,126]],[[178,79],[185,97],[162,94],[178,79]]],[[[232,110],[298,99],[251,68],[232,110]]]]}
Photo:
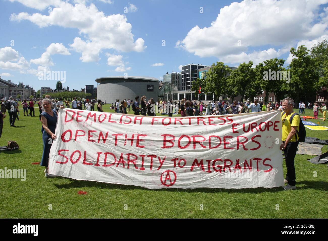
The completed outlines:
{"type": "Polygon", "coordinates": [[[284,183],[288,183],[287,186],[283,186],[285,190],[295,190],[296,189],[296,173],[294,158],[298,146],[298,135],[300,118],[298,114],[295,114],[290,123],[290,118],[295,113],[293,111],[294,101],[293,99],[287,97],[282,100],[282,109],[284,112],[281,114],[282,122],[282,144],[280,145],[280,150],[284,151],[285,162],[286,162],[286,179],[284,183]]]}

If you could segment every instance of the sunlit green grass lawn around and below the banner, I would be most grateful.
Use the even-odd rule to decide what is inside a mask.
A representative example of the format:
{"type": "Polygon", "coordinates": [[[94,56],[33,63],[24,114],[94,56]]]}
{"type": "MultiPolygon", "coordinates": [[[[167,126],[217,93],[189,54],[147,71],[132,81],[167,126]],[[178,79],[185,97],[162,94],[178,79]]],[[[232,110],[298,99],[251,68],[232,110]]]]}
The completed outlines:
{"type": "MultiPolygon", "coordinates": [[[[103,107],[109,111],[110,105],[103,107]]],[[[111,110],[113,112],[113,110],[111,110]]],[[[298,110],[296,110],[298,113],[298,110]]],[[[36,109],[36,112],[38,110],[36,109]]],[[[132,113],[132,112],[130,112],[132,113]]],[[[305,115],[313,116],[312,110],[305,115]]],[[[322,114],[319,113],[322,118],[322,114]]],[[[27,179],[0,179],[0,218],[327,218],[326,164],[312,164],[296,155],[297,190],[163,189],[46,178],[40,162],[43,150],[39,117],[24,116],[17,128],[4,119],[0,146],[16,141],[20,150],[0,154],[0,169],[26,169],[27,179]],[[314,177],[314,171],[317,177],[314,177]],[[78,195],[86,191],[86,195],[78,195]],[[51,204],[52,210],[49,210],[51,204]],[[124,206],[127,204],[127,210],[124,206]],[[200,205],[203,205],[203,210],[200,205]],[[277,204],[279,210],[276,210],[277,204]]],[[[328,120],[312,120],[328,126],[328,120]]],[[[328,139],[328,131],[306,129],[307,136],[328,139]]],[[[327,145],[322,152],[327,151],[327,145]]],[[[283,170],[286,173],[285,163],[283,170]]]]}

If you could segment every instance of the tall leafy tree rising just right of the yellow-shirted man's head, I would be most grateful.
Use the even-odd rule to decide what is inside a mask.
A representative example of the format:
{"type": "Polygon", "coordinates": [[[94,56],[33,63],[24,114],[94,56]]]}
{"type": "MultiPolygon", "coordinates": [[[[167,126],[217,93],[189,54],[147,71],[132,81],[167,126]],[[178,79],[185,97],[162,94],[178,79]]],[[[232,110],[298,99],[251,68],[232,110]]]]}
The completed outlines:
{"type": "Polygon", "coordinates": [[[286,91],[295,103],[300,100],[312,99],[317,91],[319,73],[315,59],[309,55],[309,50],[301,45],[291,48],[290,53],[296,58],[289,65],[291,71],[291,81],[283,83],[282,90],[286,91]]]}

